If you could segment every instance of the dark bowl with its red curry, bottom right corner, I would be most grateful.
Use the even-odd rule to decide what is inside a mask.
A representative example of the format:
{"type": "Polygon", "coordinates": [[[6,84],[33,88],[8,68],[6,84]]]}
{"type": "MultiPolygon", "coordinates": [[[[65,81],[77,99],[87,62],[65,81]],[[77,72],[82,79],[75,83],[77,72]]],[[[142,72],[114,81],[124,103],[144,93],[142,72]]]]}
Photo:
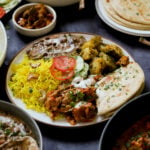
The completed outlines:
{"type": "Polygon", "coordinates": [[[150,149],[149,99],[150,92],[138,96],[112,116],[102,132],[100,150],[150,149]]]}

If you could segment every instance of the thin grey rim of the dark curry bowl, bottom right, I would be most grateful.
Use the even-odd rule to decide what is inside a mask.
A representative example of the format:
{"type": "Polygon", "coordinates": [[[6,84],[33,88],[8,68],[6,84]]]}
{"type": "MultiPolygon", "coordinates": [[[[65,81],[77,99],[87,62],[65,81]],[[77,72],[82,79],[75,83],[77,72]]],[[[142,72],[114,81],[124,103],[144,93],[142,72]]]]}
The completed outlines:
{"type": "Polygon", "coordinates": [[[109,124],[112,122],[112,120],[117,116],[117,114],[122,111],[123,109],[125,109],[128,105],[130,105],[130,103],[134,103],[136,100],[142,98],[142,97],[145,97],[147,95],[150,95],[150,91],[149,92],[146,92],[146,93],[143,93],[139,96],[136,96],[134,98],[132,98],[130,101],[128,101],[126,104],[124,104],[123,106],[121,106],[118,110],[115,111],[115,113],[110,117],[110,119],[107,121],[106,125],[104,126],[104,129],[100,135],[100,138],[99,138],[99,146],[98,146],[98,150],[102,150],[101,149],[101,146],[102,146],[102,141],[103,141],[103,138],[104,138],[104,135],[107,131],[107,128],[109,126],[109,124]]]}

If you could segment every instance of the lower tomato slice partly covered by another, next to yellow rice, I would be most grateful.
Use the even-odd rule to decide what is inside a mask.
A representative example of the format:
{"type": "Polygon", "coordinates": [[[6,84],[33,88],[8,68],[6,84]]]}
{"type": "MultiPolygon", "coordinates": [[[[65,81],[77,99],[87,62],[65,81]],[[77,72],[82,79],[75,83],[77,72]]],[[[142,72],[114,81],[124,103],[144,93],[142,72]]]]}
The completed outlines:
{"type": "Polygon", "coordinates": [[[52,76],[57,80],[68,80],[74,75],[74,70],[62,72],[57,70],[54,65],[50,67],[50,72],[52,76]]]}

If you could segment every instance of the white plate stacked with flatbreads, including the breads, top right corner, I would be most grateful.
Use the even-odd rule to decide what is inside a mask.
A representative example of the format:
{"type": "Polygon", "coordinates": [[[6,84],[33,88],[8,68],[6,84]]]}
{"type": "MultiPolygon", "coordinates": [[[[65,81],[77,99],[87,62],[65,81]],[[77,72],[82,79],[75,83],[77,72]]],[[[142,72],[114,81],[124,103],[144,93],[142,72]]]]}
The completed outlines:
{"type": "Polygon", "coordinates": [[[110,27],[134,36],[150,36],[149,0],[96,0],[95,6],[110,27]]]}

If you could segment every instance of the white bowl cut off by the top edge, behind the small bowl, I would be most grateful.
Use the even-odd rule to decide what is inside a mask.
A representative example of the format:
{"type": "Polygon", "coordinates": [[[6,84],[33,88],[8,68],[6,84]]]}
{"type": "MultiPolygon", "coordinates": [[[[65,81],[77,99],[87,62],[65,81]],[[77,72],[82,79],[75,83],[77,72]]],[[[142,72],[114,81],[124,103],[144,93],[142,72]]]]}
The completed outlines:
{"type": "Polygon", "coordinates": [[[79,2],[80,0],[26,0],[26,1],[44,3],[44,4],[51,5],[51,6],[60,7],[60,6],[67,6],[67,5],[75,4],[79,2]]]}

